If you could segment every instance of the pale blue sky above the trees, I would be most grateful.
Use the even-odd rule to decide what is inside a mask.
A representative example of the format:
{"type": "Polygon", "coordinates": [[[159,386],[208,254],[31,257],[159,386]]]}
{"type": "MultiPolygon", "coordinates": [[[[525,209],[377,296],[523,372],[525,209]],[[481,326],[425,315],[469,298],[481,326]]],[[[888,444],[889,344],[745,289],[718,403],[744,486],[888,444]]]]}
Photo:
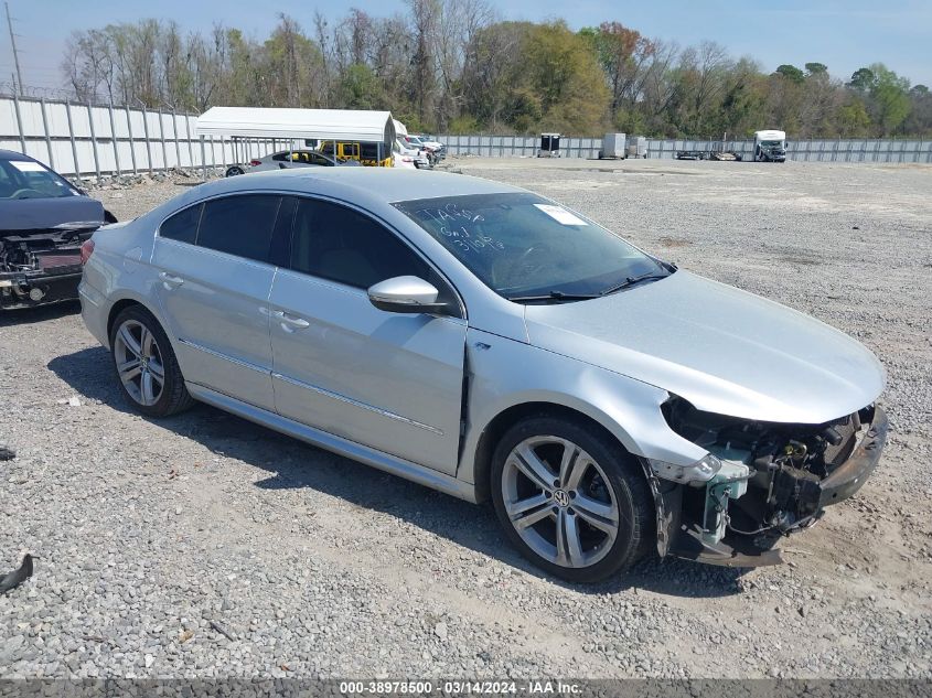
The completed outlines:
{"type": "MultiPolygon", "coordinates": [[[[58,63],[74,30],[144,18],[174,19],[208,30],[215,22],[265,37],[279,12],[310,30],[314,11],[339,19],[351,7],[384,17],[399,0],[8,0],[25,85],[61,87],[58,63]]],[[[502,19],[563,18],[574,29],[615,20],[650,37],[681,45],[713,40],[732,56],[767,71],[818,62],[847,80],[857,68],[885,63],[912,84],[932,86],[932,0],[492,0],[502,19]],[[570,9],[571,8],[571,9],[570,9]]],[[[6,17],[0,15],[0,83],[14,71],[6,17]]]]}

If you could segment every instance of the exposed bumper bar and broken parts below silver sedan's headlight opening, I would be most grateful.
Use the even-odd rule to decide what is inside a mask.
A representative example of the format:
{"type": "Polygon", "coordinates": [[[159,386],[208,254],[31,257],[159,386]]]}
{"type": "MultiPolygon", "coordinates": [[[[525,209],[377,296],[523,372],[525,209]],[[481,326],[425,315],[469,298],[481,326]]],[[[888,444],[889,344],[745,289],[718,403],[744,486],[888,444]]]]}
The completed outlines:
{"type": "Polygon", "coordinates": [[[764,473],[758,459],[743,468],[730,462],[706,483],[679,484],[657,477],[656,469],[644,462],[656,504],[661,557],[726,567],[782,562],[773,547],[776,541],[811,527],[825,507],[854,495],[880,461],[889,428],[885,411],[870,406],[850,419],[858,422],[850,452],[822,474],[792,462],[771,465],[764,473]],[[735,525],[735,519],[744,526],[735,525]]]}

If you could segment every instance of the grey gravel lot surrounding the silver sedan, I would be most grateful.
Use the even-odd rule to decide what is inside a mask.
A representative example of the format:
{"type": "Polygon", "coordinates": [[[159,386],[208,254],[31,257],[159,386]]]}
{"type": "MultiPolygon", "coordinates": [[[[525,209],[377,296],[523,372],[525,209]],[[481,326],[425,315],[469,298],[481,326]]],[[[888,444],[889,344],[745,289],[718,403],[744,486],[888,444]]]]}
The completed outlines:
{"type": "MultiPolygon", "coordinates": [[[[525,565],[490,508],[204,406],[136,416],[76,305],[9,314],[0,569],[38,559],[0,597],[0,675],[932,676],[932,168],[447,167],[860,339],[889,374],[874,479],[782,567],[646,561],[571,587],[525,565]]],[[[180,191],[97,195],[124,218],[180,191]]]]}

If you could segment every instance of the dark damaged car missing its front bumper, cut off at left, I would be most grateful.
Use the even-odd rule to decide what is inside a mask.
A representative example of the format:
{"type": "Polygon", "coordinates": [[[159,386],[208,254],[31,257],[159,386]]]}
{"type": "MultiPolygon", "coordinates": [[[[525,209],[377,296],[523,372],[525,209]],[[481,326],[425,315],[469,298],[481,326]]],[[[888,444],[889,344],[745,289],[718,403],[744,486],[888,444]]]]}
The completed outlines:
{"type": "Polygon", "coordinates": [[[81,246],[115,221],[38,160],[0,150],[0,310],[76,300],[81,246]]]}

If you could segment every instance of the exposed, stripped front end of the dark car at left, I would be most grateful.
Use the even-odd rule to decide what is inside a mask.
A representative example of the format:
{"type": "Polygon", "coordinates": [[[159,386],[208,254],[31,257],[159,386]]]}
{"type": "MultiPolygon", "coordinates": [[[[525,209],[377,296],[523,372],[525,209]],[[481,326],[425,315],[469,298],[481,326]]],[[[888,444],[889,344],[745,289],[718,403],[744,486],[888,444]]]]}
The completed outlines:
{"type": "Polygon", "coordinates": [[[15,230],[0,236],[0,308],[76,298],[81,245],[95,229],[15,230]]]}

